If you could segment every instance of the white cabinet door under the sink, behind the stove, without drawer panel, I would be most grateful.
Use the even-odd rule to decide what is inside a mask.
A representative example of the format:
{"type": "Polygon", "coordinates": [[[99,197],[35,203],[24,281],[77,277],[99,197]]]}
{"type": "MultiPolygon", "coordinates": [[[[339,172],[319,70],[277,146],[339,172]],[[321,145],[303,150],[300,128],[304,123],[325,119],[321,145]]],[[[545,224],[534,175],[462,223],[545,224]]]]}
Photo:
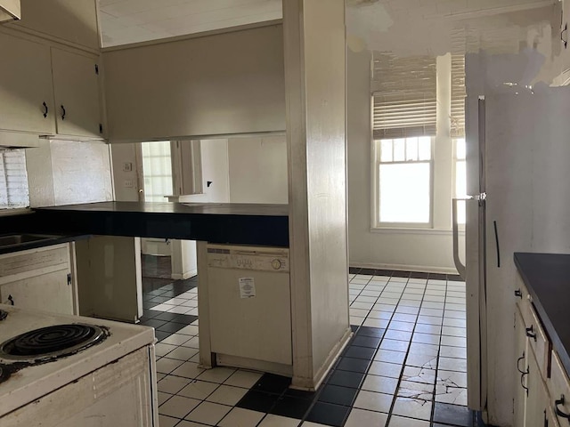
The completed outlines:
{"type": "Polygon", "coordinates": [[[1,301],[22,309],[74,314],[69,274],[69,269],[58,270],[6,283],[0,286],[1,301]]]}

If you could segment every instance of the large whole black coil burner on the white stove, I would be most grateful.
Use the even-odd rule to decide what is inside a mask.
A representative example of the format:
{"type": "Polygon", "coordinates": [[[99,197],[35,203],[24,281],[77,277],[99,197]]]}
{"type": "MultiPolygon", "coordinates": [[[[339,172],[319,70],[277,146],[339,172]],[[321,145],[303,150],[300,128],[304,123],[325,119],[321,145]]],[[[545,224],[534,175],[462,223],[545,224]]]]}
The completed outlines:
{"type": "Polygon", "coordinates": [[[42,327],[0,344],[0,358],[35,362],[55,359],[85,350],[107,335],[102,327],[79,323],[42,327]]]}

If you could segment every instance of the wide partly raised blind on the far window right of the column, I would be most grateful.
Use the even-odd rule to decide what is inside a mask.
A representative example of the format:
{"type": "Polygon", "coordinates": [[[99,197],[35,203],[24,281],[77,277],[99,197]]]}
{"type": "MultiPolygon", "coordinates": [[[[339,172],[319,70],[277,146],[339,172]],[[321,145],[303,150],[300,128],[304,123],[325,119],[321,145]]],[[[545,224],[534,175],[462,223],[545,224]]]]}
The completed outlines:
{"type": "Polygon", "coordinates": [[[436,135],[436,58],[374,55],[375,140],[436,135]]]}

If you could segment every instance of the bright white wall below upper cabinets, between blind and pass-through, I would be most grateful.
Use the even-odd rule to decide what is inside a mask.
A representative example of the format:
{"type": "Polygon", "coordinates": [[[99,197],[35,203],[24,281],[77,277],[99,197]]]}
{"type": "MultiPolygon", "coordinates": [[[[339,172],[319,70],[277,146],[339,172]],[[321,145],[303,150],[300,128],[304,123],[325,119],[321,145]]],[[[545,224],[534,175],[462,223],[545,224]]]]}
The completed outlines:
{"type": "Polygon", "coordinates": [[[40,140],[26,149],[30,206],[113,200],[109,146],[40,140]]]}

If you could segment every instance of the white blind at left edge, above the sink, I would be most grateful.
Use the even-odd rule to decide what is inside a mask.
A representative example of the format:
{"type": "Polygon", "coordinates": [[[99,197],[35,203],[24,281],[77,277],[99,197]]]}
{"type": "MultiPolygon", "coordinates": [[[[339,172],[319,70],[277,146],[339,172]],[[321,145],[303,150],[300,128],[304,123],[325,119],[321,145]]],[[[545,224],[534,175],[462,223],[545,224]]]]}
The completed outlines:
{"type": "Polygon", "coordinates": [[[29,205],[28,173],[24,149],[0,150],[0,208],[29,205]]]}

